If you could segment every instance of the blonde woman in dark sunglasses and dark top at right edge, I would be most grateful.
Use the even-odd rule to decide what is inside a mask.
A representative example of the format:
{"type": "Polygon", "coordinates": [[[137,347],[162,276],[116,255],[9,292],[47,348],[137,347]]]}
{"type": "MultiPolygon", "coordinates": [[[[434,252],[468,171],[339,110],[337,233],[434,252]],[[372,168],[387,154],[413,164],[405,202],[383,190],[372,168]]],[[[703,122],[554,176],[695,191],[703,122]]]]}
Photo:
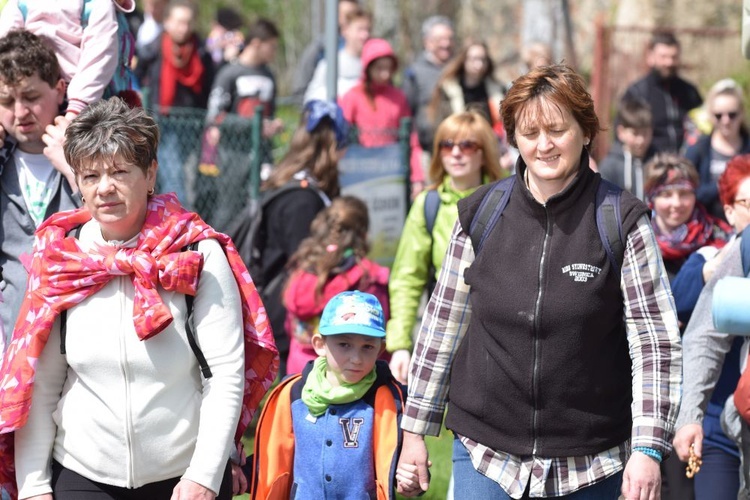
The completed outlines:
{"type": "Polygon", "coordinates": [[[750,153],[742,88],[731,78],[719,80],[708,92],[705,106],[712,131],[689,147],[685,157],[698,169],[698,201],[710,214],[724,218],[716,182],[733,156],[750,153]]]}

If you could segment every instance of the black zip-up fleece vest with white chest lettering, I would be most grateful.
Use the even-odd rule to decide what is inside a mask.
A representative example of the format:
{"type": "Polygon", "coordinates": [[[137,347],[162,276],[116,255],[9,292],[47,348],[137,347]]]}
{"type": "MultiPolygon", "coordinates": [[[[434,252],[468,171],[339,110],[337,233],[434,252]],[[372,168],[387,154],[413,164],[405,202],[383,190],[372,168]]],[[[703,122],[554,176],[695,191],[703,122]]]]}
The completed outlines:
{"type": "MultiPolygon", "coordinates": [[[[596,226],[599,174],[584,161],[546,206],[518,180],[465,274],[472,317],[450,378],[446,426],[514,455],[590,455],[632,419],[620,276],[596,226]]],[[[458,204],[467,232],[491,186],[458,204]]],[[[624,237],[647,207],[623,192],[624,237]]]]}

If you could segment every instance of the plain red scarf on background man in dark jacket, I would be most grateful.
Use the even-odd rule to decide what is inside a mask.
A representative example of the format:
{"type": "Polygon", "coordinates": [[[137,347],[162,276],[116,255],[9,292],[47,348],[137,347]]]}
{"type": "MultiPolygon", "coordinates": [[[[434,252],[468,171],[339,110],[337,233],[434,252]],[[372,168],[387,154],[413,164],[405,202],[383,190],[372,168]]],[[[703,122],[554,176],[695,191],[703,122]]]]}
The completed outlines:
{"type": "Polygon", "coordinates": [[[161,38],[161,80],[159,81],[159,105],[169,109],[177,93],[177,84],[189,88],[193,94],[203,92],[203,72],[205,68],[198,56],[198,40],[177,45],[165,34],[161,38]]]}

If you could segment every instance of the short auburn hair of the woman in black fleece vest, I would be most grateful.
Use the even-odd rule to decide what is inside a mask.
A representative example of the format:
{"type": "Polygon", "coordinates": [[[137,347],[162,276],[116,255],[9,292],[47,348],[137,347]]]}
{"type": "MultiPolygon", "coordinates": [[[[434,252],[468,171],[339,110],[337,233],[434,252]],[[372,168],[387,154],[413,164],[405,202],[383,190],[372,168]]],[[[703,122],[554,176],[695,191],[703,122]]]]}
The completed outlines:
{"type": "MultiPolygon", "coordinates": [[[[548,100],[561,110],[567,109],[578,122],[583,135],[593,144],[594,137],[601,128],[594,111],[594,100],[586,90],[586,82],[569,66],[554,64],[540,66],[518,77],[500,103],[503,125],[511,146],[518,147],[515,137],[516,119],[529,103],[537,99],[548,100]]],[[[538,102],[533,105],[538,105],[538,102]]]]}

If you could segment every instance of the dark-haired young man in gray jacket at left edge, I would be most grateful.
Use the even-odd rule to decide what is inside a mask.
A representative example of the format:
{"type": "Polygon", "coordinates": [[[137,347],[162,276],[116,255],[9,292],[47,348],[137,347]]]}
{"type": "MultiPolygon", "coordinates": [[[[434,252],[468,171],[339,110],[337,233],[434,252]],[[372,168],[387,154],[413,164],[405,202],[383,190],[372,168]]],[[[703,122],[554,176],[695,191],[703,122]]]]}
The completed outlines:
{"type": "MultiPolygon", "coordinates": [[[[0,38],[0,268],[5,281],[0,320],[9,337],[26,291],[22,263],[34,231],[50,215],[80,206],[73,171],[62,153],[60,106],[65,81],[43,39],[23,30],[0,38]]],[[[0,354],[7,344],[0,338],[0,354]]]]}

